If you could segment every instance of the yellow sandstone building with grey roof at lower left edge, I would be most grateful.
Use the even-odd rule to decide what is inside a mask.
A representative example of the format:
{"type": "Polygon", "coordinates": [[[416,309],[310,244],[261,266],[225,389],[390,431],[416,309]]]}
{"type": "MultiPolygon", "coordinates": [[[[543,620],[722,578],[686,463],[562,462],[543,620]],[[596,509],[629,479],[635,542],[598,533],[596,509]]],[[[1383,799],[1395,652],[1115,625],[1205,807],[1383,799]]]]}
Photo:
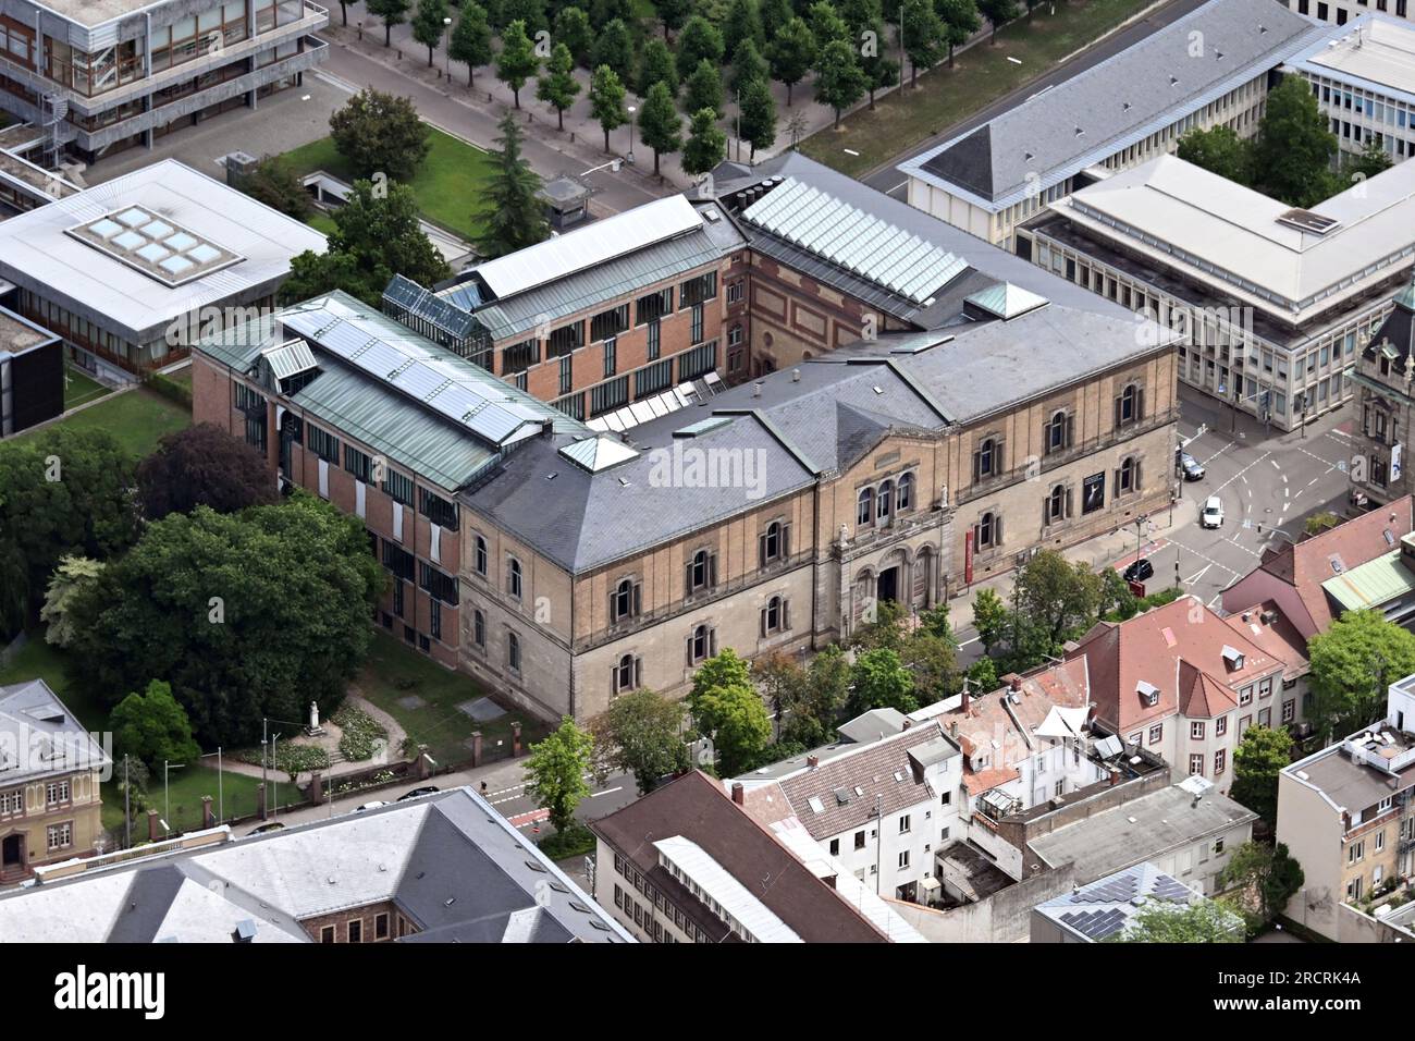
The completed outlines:
{"type": "Polygon", "coordinates": [[[0,884],[95,853],[112,765],[44,680],[0,687],[0,884]]]}

